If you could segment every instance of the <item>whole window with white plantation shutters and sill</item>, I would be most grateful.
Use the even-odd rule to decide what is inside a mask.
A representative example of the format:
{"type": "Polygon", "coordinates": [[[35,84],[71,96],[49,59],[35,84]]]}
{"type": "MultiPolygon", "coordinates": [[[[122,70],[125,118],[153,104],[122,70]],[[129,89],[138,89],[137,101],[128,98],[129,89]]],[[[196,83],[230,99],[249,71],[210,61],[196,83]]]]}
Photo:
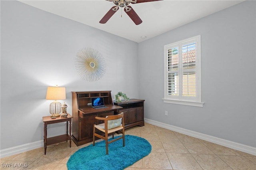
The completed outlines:
{"type": "Polygon", "coordinates": [[[201,36],[164,45],[164,103],[202,107],[201,36]]]}

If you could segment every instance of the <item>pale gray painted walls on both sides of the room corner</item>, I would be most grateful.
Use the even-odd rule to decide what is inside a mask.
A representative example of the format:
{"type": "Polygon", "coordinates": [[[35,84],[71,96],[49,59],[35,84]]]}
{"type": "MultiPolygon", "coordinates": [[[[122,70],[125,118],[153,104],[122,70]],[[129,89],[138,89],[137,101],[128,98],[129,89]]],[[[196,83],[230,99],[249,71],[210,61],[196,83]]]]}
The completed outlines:
{"type": "MultiPolygon", "coordinates": [[[[66,87],[69,113],[71,91],[112,90],[113,98],[123,91],[146,99],[148,119],[255,147],[254,1],[139,44],[21,2],[0,3],[1,150],[43,140],[42,117],[49,115],[51,103],[46,89],[56,84],[66,87]],[[204,107],[163,103],[164,45],[199,34],[204,107]],[[97,49],[106,60],[106,74],[97,82],[80,79],[74,68],[74,57],[84,47],[97,49]]],[[[65,133],[64,127],[48,126],[48,136],[65,133]]]]}

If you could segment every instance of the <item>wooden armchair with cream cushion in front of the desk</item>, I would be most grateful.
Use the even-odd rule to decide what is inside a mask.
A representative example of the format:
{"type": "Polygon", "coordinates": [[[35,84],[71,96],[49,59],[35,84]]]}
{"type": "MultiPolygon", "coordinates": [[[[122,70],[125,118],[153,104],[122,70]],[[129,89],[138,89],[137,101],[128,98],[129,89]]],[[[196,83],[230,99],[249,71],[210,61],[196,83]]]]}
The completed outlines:
{"type": "Polygon", "coordinates": [[[95,145],[95,136],[98,138],[101,138],[106,141],[106,154],[108,154],[108,144],[112,143],[116,140],[123,139],[123,146],[124,146],[124,113],[120,113],[118,115],[111,115],[107,116],[106,118],[104,117],[95,117],[95,119],[102,120],[104,123],[99,124],[99,125],[94,125],[93,127],[93,146],[95,145]],[[95,132],[95,128],[98,130],[104,132],[104,136],[97,134],[95,132]],[[114,138],[114,132],[116,131],[122,132],[122,136],[108,141],[108,134],[112,133],[112,138],[114,138]]]}

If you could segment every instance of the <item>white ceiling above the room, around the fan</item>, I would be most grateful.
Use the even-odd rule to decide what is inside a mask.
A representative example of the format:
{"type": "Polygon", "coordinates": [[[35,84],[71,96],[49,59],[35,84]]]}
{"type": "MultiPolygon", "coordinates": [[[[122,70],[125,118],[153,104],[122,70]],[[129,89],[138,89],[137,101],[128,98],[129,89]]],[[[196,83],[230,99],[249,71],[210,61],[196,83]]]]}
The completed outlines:
{"type": "Polygon", "coordinates": [[[142,42],[244,0],[162,0],[130,4],[142,20],[140,25],[135,25],[123,8],[119,8],[106,24],[100,24],[101,18],[115,6],[107,0],[19,1],[134,42],[142,42]],[[142,36],[146,38],[142,39],[142,36]]]}

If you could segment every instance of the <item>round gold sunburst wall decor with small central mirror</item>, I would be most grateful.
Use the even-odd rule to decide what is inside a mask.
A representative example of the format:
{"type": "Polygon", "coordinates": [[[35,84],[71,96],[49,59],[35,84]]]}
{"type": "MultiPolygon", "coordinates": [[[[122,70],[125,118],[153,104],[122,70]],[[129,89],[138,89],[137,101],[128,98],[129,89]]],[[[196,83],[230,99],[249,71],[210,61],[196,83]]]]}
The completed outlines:
{"type": "Polygon", "coordinates": [[[102,54],[96,49],[83,48],[76,54],[75,68],[82,79],[98,81],[106,72],[106,63],[102,54]]]}

